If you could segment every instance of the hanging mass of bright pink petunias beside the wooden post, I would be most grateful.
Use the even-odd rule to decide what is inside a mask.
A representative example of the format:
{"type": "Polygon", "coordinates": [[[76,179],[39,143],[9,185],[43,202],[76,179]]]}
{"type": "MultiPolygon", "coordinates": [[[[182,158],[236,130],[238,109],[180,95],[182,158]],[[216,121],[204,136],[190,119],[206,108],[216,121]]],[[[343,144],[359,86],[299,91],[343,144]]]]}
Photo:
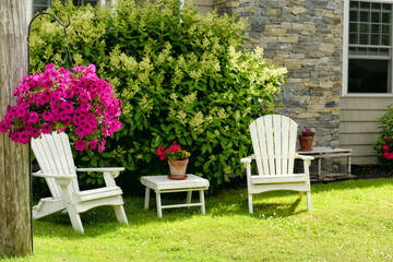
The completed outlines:
{"type": "Polygon", "coordinates": [[[16,106],[9,106],[0,132],[11,141],[27,144],[40,133],[66,131],[78,151],[102,152],[105,138],[121,128],[121,100],[95,67],[75,67],[74,72],[47,64],[44,72],[24,78],[13,93],[16,106]]]}

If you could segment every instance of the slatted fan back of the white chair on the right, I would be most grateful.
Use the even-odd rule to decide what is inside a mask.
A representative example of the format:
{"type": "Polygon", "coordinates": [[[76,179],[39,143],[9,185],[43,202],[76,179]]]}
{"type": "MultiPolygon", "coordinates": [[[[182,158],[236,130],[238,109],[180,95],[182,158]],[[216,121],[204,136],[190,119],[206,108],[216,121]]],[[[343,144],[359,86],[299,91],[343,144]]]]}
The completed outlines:
{"type": "Polygon", "coordinates": [[[250,124],[259,175],[294,172],[297,123],[284,116],[260,117],[250,124]]]}

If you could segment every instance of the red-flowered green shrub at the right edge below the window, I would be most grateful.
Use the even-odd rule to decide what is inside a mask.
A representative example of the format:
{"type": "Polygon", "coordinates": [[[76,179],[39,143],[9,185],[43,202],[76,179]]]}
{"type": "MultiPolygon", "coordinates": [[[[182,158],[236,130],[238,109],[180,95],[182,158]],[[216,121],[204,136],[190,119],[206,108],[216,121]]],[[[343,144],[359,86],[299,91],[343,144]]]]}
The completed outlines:
{"type": "Polygon", "coordinates": [[[393,105],[388,106],[388,111],[378,120],[380,132],[373,146],[377,158],[383,167],[393,167],[393,105]]]}

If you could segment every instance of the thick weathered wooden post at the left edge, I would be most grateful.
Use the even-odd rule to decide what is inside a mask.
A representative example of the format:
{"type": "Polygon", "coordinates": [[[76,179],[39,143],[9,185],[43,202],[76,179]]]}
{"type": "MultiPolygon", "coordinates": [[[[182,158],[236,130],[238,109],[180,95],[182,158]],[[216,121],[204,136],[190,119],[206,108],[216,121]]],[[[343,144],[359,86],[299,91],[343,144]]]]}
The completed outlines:
{"type": "MultiPolygon", "coordinates": [[[[0,1],[0,118],[15,105],[15,86],[27,74],[27,26],[32,0],[0,1]]],[[[0,133],[0,253],[33,251],[29,146],[0,133]]]]}

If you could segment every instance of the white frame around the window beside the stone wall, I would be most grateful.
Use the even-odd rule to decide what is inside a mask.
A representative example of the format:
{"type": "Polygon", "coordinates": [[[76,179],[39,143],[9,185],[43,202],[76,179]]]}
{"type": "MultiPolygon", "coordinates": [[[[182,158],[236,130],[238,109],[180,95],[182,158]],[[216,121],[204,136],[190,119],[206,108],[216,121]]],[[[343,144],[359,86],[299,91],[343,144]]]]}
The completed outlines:
{"type": "MultiPolygon", "coordinates": [[[[390,3],[393,0],[355,0],[359,2],[390,3]]],[[[390,93],[348,93],[348,49],[349,49],[349,0],[344,0],[344,23],[343,23],[343,74],[342,74],[342,96],[348,97],[393,97],[393,81],[391,83],[390,93]]],[[[391,15],[393,19],[393,13],[391,15]]],[[[393,24],[392,24],[393,25],[393,24]]],[[[391,28],[391,43],[393,45],[393,28],[391,28]]],[[[391,61],[393,64],[393,50],[391,52],[391,61]]],[[[393,67],[390,70],[390,78],[393,79],[393,67]]]]}

